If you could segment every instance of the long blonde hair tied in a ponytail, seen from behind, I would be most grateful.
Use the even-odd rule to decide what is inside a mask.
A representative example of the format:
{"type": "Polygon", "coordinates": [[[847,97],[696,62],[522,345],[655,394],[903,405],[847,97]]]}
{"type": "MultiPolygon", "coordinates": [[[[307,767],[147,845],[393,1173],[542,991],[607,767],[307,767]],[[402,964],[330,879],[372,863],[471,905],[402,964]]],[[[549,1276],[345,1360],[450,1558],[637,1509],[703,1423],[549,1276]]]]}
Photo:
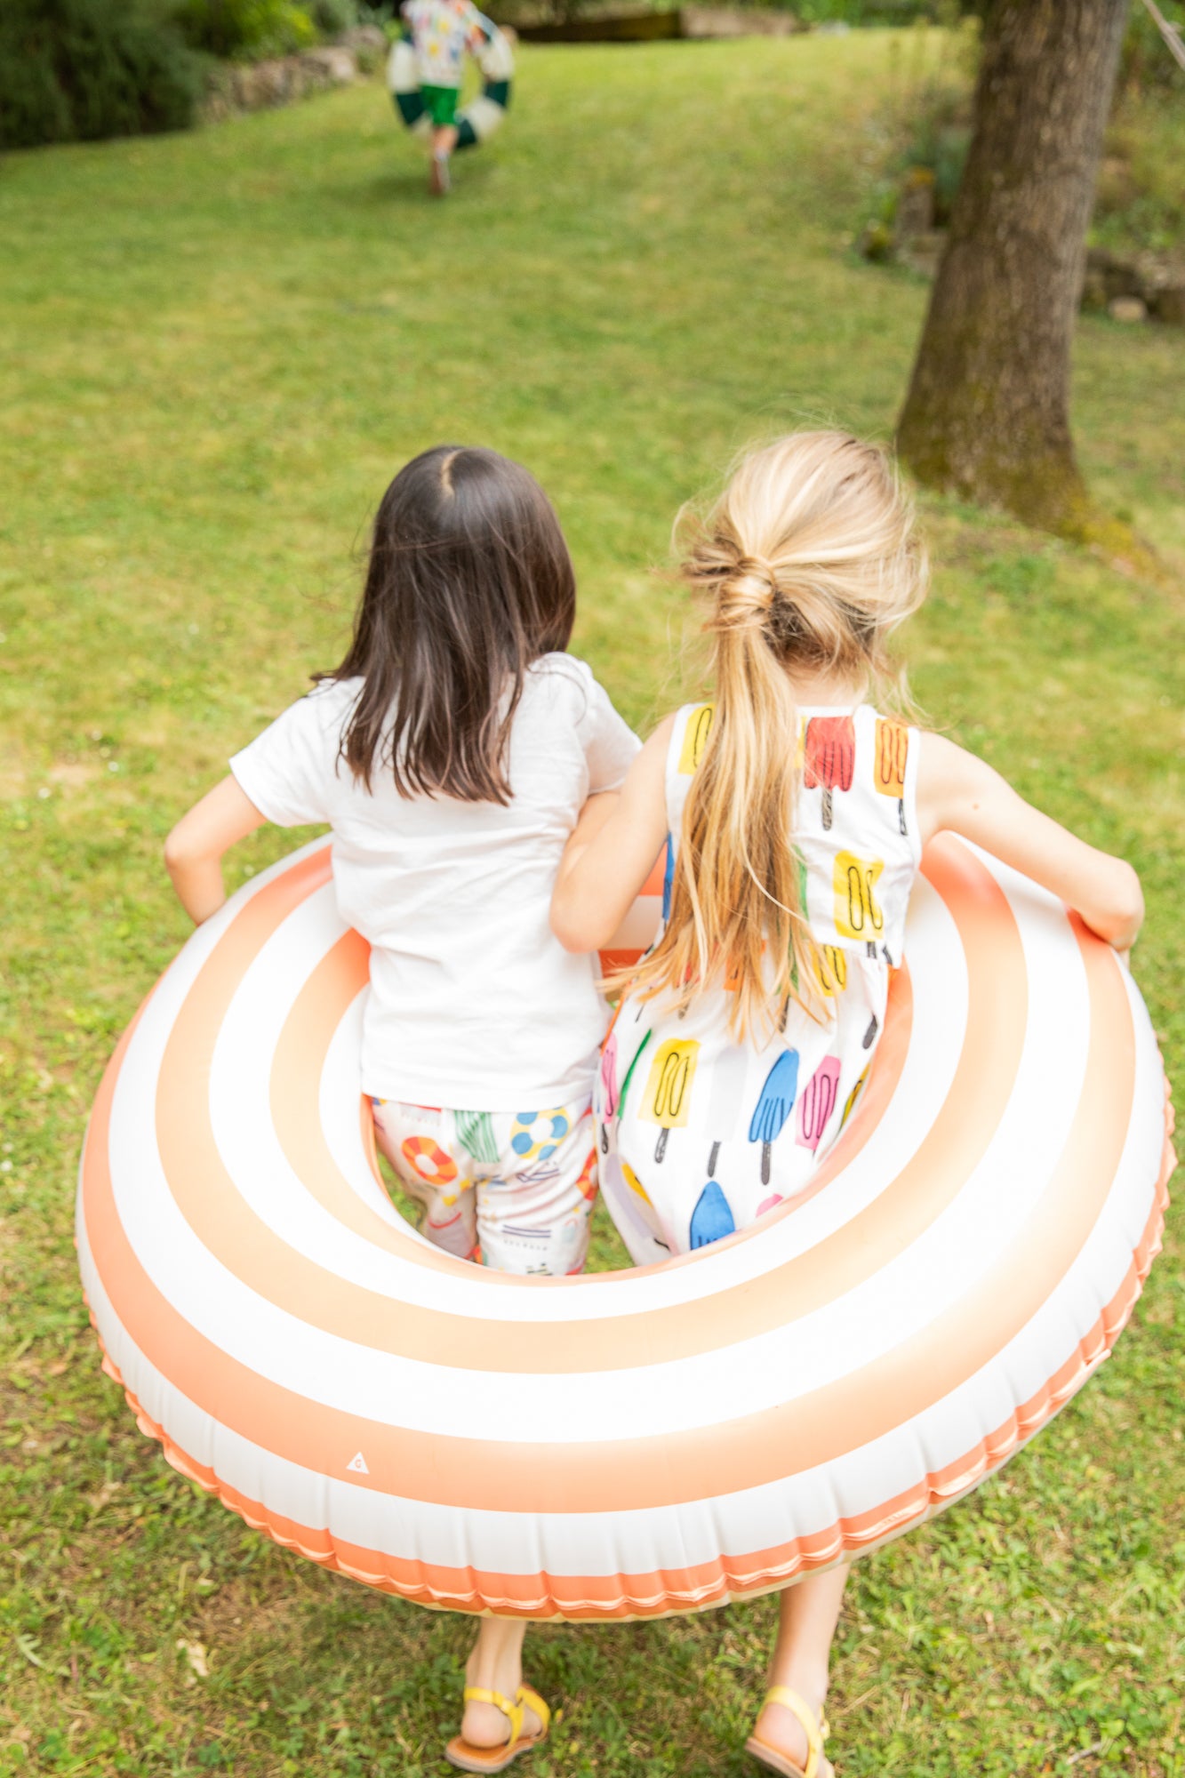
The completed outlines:
{"type": "Polygon", "coordinates": [[[788,997],[820,1006],[792,845],[794,672],[900,690],[886,644],[925,596],[925,553],[883,452],[797,432],[740,462],[681,573],[710,599],[715,715],[683,809],[667,926],[628,980],[681,1006],[724,980],[733,1035],[763,1037],[788,997]]]}

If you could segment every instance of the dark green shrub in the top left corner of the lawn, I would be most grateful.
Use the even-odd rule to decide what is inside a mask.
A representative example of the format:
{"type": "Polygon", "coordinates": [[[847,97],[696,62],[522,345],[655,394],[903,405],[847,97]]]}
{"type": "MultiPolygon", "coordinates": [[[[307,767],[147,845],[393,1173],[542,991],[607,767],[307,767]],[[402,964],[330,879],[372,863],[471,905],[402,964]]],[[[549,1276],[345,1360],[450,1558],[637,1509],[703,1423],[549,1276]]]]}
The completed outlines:
{"type": "Polygon", "coordinates": [[[201,64],[142,0],[4,0],[0,146],[183,130],[201,64]]]}

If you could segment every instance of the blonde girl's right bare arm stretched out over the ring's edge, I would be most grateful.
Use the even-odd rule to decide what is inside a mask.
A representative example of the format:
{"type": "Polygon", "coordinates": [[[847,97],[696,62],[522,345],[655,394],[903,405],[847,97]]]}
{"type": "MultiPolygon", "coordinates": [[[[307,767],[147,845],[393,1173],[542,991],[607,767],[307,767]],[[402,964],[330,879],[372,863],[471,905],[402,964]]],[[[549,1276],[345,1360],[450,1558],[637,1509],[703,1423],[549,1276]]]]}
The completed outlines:
{"type": "Polygon", "coordinates": [[[1041,814],[998,772],[941,734],[922,741],[918,814],[923,843],[941,829],[963,834],[1059,894],[1116,949],[1135,942],[1144,896],[1132,866],[1041,814]]]}

